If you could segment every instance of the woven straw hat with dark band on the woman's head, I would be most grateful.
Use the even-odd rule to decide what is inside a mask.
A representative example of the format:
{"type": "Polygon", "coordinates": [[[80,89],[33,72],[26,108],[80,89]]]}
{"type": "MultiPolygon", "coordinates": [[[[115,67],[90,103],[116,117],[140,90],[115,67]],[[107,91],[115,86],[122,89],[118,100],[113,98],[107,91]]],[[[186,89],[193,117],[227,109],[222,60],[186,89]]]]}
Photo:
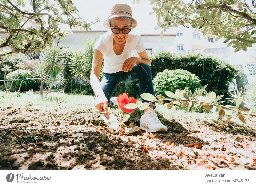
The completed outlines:
{"type": "Polygon", "coordinates": [[[109,19],[114,17],[130,17],[133,19],[132,29],[137,26],[137,21],[132,17],[132,9],[128,4],[115,4],[110,11],[110,15],[108,19],[106,19],[103,23],[105,28],[110,29],[109,19]]]}

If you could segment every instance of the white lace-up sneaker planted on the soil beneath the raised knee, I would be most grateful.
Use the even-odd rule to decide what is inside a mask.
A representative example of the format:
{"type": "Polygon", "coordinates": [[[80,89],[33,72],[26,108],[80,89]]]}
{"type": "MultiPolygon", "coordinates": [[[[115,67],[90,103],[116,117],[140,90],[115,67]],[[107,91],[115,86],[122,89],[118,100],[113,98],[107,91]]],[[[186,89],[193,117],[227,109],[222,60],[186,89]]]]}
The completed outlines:
{"type": "Polygon", "coordinates": [[[145,131],[148,130],[148,132],[167,132],[167,127],[160,122],[155,109],[150,107],[140,118],[140,128],[145,131]]]}

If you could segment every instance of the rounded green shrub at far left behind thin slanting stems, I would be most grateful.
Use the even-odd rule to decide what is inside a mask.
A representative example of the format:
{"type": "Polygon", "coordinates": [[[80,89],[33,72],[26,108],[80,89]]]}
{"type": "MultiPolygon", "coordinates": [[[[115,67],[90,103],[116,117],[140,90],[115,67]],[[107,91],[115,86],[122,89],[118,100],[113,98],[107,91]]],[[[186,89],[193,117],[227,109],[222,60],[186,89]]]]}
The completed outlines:
{"type": "MultiPolygon", "coordinates": [[[[10,73],[8,73],[6,75],[6,80],[11,80],[15,77],[15,75],[17,74],[18,70],[12,71],[10,73]]],[[[19,71],[19,74],[17,75],[16,79],[24,79],[24,78],[33,78],[35,76],[35,74],[30,71],[30,70],[21,70],[19,71]]],[[[11,81],[8,82],[8,84],[10,85],[11,81]]],[[[13,82],[13,87],[15,87],[15,89],[19,89],[20,87],[20,83],[21,80],[15,80],[13,82]]],[[[24,92],[27,90],[33,90],[35,89],[35,85],[36,85],[36,89],[38,89],[39,86],[39,81],[35,80],[35,79],[28,79],[28,80],[24,80],[22,85],[21,85],[21,89],[20,92],[24,92]]]]}

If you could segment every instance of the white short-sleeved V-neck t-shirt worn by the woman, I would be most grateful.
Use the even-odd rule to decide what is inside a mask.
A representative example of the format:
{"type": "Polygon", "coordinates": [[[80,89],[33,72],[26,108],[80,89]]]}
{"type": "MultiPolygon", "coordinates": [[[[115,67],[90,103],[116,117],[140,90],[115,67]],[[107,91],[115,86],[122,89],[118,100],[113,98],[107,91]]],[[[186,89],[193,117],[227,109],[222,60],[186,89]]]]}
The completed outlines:
{"type": "Polygon", "coordinates": [[[145,46],[142,42],[140,34],[129,33],[126,38],[123,53],[116,55],[113,50],[112,31],[108,30],[108,32],[100,36],[93,49],[97,49],[103,54],[103,72],[115,73],[122,70],[124,61],[133,56],[134,50],[137,52],[143,52],[145,50],[145,46]]]}

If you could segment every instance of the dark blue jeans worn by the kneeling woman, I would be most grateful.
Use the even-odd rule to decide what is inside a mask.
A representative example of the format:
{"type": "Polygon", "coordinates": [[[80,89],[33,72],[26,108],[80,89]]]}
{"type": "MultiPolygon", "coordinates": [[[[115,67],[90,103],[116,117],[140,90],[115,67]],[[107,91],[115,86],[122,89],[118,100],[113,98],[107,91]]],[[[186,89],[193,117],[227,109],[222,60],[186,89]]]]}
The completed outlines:
{"type": "MultiPolygon", "coordinates": [[[[133,66],[132,70],[128,72],[119,71],[111,74],[104,73],[104,76],[100,82],[100,86],[106,98],[108,99],[108,105],[113,105],[113,103],[110,101],[110,98],[120,83],[129,83],[138,80],[140,95],[143,93],[150,93],[155,96],[151,67],[148,64],[141,63],[139,65],[135,65],[133,66]]],[[[144,103],[150,101],[142,99],[142,102],[144,103]]],[[[150,103],[150,105],[156,108],[155,102],[150,103]]]]}

